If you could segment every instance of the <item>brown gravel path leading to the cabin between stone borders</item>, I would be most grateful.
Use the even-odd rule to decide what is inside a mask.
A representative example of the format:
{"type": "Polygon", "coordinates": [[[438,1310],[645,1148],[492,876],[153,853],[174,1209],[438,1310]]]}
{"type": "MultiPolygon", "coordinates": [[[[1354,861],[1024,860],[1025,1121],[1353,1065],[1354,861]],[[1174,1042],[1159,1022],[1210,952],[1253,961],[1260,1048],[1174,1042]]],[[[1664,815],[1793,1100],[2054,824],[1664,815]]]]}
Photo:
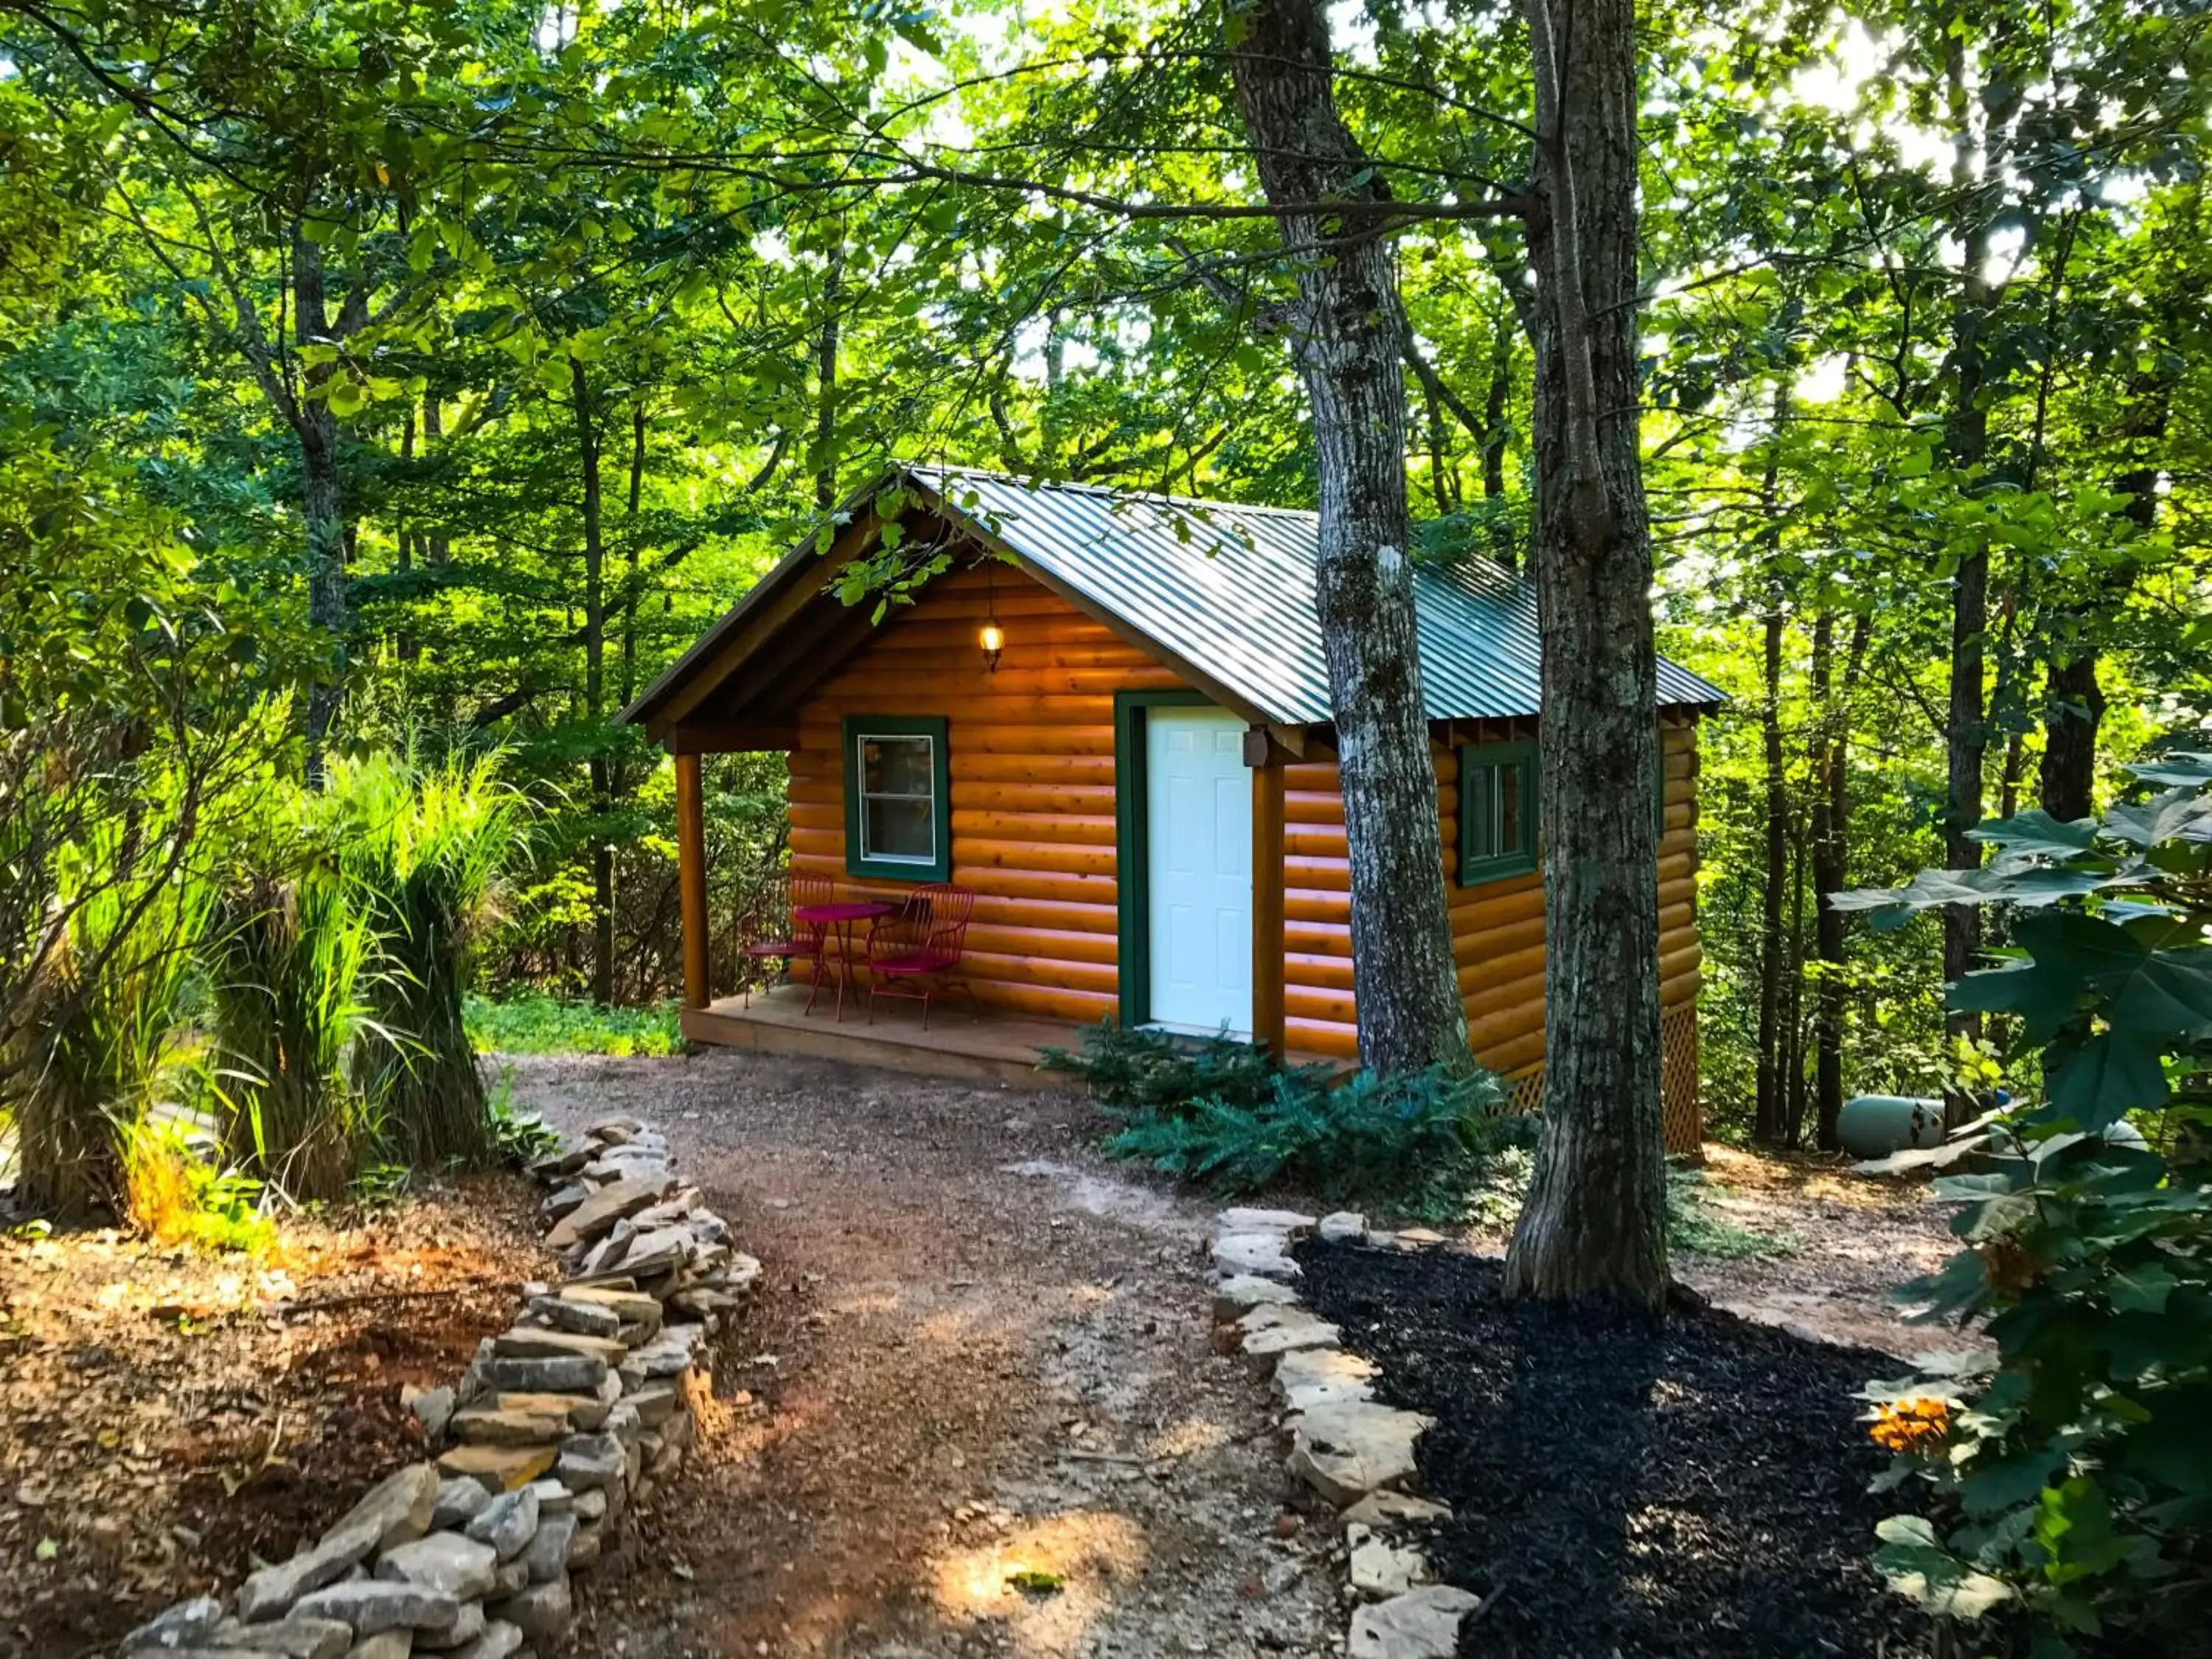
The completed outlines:
{"type": "Polygon", "coordinates": [[[1327,1528],[1210,1349],[1210,1210],[1095,1161],[1071,1093],[708,1051],[515,1060],[659,1124],[765,1267],[703,1455],[575,1650],[1321,1655],[1327,1528]]]}

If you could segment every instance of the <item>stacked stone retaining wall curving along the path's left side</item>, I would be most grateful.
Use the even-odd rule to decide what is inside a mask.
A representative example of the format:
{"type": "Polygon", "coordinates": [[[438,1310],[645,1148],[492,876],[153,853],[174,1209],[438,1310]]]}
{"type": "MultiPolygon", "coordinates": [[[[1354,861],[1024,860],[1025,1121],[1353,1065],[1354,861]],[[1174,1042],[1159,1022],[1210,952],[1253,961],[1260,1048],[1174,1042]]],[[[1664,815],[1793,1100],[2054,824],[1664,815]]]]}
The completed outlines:
{"type": "Polygon", "coordinates": [[[522,1318],[453,1387],[409,1394],[436,1462],[383,1480],[228,1604],[139,1626],[119,1655],[529,1659],[562,1644],[571,1579],[684,1462],[710,1391],[703,1345],[761,1263],[635,1117],[531,1172],[553,1188],[546,1243],[571,1276],[526,1285],[522,1318]]]}

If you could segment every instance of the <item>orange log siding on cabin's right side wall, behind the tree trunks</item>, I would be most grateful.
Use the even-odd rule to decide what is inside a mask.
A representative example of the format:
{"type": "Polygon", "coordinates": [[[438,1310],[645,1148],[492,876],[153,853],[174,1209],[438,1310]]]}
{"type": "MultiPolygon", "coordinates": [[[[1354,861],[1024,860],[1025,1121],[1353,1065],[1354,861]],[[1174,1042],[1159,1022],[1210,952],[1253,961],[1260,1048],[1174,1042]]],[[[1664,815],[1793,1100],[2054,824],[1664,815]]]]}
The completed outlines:
{"type": "MultiPolygon", "coordinates": [[[[1533,723],[1478,737],[1533,737],[1533,723]]],[[[1431,745],[1436,814],[1442,836],[1451,949],[1460,1002],[1475,1057],[1498,1073],[1522,1073],[1544,1060],[1544,883],[1542,876],[1460,887],[1458,748],[1431,745]]],[[[1661,728],[1666,834],[1659,843],[1659,1002],[1663,1011],[1697,1000],[1697,728],[1661,728]]],[[[1287,768],[1283,794],[1287,920],[1283,942],[1290,1046],[1354,1055],[1358,1026],[1352,998],[1349,865],[1345,801],[1334,761],[1287,768]]]]}

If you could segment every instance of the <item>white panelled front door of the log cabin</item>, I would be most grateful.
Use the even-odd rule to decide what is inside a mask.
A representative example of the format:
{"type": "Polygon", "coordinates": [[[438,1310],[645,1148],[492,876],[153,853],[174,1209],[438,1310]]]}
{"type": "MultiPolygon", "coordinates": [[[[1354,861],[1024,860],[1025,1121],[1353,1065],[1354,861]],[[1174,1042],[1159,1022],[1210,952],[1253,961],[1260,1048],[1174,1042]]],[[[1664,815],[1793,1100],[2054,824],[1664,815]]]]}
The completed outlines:
{"type": "Polygon", "coordinates": [[[1252,774],[1219,708],[1144,712],[1150,1018],[1252,1031],[1252,774]]]}

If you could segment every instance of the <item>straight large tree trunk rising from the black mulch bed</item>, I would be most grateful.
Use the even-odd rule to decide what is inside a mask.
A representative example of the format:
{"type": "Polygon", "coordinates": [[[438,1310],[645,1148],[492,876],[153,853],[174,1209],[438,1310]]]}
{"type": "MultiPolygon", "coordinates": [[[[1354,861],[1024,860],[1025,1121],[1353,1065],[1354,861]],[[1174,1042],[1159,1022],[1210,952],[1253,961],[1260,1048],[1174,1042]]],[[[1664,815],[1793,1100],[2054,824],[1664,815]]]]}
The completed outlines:
{"type": "Polygon", "coordinates": [[[1524,0],[1535,60],[1544,1139],[1506,1292],[1666,1301],[1659,790],[1637,389],[1635,0],[1524,0]]]}

